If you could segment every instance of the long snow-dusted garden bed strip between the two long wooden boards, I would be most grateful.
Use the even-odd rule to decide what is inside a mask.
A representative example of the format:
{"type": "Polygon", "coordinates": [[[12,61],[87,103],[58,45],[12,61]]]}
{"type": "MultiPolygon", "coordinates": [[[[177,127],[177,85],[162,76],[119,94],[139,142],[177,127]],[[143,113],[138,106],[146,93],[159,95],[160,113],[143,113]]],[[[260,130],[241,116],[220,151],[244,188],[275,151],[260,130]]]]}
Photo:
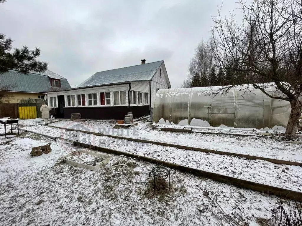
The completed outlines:
{"type": "MultiPolygon", "coordinates": [[[[130,142],[122,139],[95,136],[93,134],[67,131],[42,125],[29,128],[32,131],[40,132],[42,134],[78,140],[82,143],[91,143],[94,146],[108,147],[131,154],[143,155],[166,162],[172,162],[209,172],[220,173],[261,184],[296,191],[301,191],[302,187],[302,167],[300,166],[277,165],[263,160],[249,160],[236,156],[218,155],[155,144],[130,142]],[[289,167],[289,170],[285,170],[285,167],[289,167]],[[285,170],[285,172],[282,170],[285,170]]],[[[261,142],[261,139],[262,138],[259,138],[258,140],[261,142]]],[[[185,139],[183,141],[185,141],[185,139]]]]}

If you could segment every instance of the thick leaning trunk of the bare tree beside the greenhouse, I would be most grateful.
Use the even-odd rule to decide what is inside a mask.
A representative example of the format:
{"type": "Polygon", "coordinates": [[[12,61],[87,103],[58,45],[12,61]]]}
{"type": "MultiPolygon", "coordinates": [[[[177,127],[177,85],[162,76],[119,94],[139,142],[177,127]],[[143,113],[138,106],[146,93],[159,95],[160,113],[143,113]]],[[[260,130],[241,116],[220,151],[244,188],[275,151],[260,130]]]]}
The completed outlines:
{"type": "Polygon", "coordinates": [[[291,101],[291,114],[289,115],[285,136],[294,139],[299,126],[299,119],[301,117],[302,105],[298,100],[291,101]]]}

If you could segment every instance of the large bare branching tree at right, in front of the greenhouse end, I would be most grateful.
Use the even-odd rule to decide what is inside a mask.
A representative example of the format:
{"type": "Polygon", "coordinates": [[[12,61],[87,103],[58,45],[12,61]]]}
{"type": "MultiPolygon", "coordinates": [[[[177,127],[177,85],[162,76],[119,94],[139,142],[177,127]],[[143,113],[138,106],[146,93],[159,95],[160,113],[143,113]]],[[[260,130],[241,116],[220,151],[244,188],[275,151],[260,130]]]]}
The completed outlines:
{"type": "Polygon", "coordinates": [[[233,15],[222,18],[220,10],[213,17],[214,59],[234,78],[233,85],[220,92],[249,83],[273,99],[289,101],[285,134],[294,138],[302,111],[302,1],[253,0],[247,5],[239,0],[239,4],[242,23],[236,23],[233,15]],[[272,86],[278,93],[268,92],[272,86]]]}

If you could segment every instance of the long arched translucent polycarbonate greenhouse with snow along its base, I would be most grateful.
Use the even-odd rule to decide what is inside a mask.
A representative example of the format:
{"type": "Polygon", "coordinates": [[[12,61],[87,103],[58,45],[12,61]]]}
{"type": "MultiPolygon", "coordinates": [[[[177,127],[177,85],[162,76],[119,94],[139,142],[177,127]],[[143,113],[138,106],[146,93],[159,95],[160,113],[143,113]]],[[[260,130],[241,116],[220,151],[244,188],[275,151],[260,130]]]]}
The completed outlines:
{"type": "MultiPolygon", "coordinates": [[[[201,119],[211,126],[272,128],[286,127],[291,111],[288,101],[272,99],[259,89],[232,88],[226,95],[213,94],[221,87],[160,89],[155,98],[153,121],[191,123],[201,119]]],[[[273,94],[275,88],[266,89],[273,94]]],[[[191,124],[192,125],[192,124],[191,124]]]]}

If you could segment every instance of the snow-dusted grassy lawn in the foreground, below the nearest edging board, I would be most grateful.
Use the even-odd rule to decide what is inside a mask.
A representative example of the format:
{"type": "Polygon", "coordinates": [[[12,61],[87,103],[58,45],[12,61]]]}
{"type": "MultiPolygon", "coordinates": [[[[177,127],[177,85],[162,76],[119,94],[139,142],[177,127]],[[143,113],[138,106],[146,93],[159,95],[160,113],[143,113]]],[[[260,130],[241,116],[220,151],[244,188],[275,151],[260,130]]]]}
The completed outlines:
{"type": "MultiPolygon", "coordinates": [[[[42,125],[28,128],[47,133],[42,125]]],[[[155,147],[146,148],[155,152],[155,147]]],[[[25,132],[0,139],[0,225],[258,226],[257,219],[269,218],[279,200],[178,171],[171,176],[169,194],[150,197],[148,174],[156,165],[135,161],[135,174],[107,175],[107,167],[89,171],[59,163],[59,158],[80,150],[25,132]],[[29,155],[32,146],[49,142],[49,154],[29,155]]]]}

